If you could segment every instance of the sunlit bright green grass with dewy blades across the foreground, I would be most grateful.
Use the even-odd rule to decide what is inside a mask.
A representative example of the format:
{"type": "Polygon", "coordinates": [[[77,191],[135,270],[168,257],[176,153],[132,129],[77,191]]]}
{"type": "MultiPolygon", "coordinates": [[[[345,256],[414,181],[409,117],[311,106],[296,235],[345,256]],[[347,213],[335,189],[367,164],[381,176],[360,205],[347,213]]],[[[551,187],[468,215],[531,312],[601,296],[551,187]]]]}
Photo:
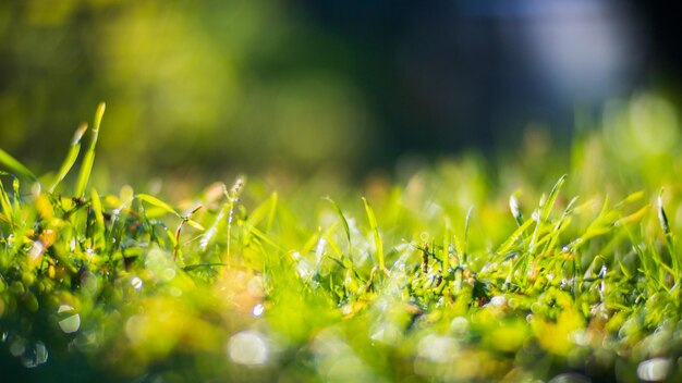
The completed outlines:
{"type": "Polygon", "coordinates": [[[679,140],[605,122],[567,169],[526,147],[495,180],[470,156],[345,198],[240,178],[171,203],[88,187],[103,111],[56,174],[0,150],[3,374],[682,379],[679,140]]]}

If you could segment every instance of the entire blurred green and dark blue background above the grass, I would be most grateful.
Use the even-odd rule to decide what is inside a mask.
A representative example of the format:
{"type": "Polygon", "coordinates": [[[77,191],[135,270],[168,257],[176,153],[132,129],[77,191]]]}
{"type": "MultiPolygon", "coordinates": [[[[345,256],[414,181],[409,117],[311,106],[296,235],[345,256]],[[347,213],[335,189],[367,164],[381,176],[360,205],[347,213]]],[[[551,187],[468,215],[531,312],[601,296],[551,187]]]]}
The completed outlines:
{"type": "Polygon", "coordinates": [[[3,1],[0,146],[53,171],[103,100],[97,170],[114,182],[354,178],[528,139],[568,153],[576,116],[608,100],[654,89],[677,109],[681,24],[665,5],[3,1]]]}

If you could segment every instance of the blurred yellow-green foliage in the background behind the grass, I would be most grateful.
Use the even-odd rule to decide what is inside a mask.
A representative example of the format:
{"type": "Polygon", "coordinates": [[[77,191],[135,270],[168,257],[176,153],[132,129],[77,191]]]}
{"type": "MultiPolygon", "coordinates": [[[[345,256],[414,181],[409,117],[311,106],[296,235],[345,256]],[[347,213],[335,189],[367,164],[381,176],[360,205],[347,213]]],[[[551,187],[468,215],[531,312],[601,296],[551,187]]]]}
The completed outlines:
{"type": "Polygon", "coordinates": [[[333,64],[343,53],[282,1],[28,1],[0,15],[0,137],[38,169],[100,99],[100,158],[127,176],[352,168],[370,136],[333,64]]]}

